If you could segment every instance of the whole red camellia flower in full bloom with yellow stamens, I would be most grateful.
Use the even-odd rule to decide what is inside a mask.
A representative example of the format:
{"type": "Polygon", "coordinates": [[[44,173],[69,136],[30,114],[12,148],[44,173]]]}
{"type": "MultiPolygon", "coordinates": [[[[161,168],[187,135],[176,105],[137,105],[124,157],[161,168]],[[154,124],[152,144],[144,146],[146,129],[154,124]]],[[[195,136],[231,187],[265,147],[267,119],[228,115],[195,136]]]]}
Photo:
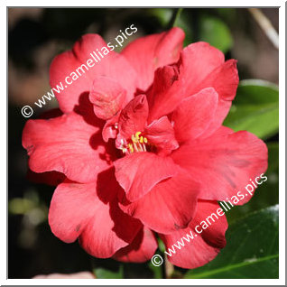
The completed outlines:
{"type": "MultiPolygon", "coordinates": [[[[170,247],[266,170],[264,142],[222,125],[236,96],[236,60],[206,42],[182,50],[183,38],[172,28],[109,51],[56,95],[61,113],[26,123],[30,169],[60,179],[49,224],[64,242],[79,238],[90,255],[145,262],[156,236],[170,247]]],[[[87,34],[57,56],[51,87],[105,45],[87,34]]],[[[171,263],[207,264],[226,230],[221,217],[171,263]]]]}

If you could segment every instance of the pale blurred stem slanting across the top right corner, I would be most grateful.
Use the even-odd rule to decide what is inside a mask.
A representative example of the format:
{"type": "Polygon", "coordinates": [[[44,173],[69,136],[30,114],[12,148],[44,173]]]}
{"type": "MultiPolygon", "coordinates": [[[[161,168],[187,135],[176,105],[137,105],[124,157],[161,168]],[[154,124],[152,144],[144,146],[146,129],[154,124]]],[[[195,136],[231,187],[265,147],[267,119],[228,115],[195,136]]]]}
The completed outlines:
{"type": "Polygon", "coordinates": [[[248,11],[253,15],[267,38],[273,43],[273,46],[279,49],[279,36],[269,19],[258,8],[248,8],[248,11]]]}

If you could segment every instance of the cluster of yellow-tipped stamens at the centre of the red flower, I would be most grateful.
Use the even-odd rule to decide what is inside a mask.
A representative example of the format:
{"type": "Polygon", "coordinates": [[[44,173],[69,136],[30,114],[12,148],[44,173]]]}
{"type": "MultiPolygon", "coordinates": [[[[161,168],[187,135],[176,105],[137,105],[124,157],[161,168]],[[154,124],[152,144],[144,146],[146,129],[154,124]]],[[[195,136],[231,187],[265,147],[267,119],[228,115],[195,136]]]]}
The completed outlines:
{"type": "Polygon", "coordinates": [[[136,132],[132,135],[130,140],[121,140],[120,150],[124,154],[146,152],[149,148],[149,142],[141,132],[136,132]]]}

